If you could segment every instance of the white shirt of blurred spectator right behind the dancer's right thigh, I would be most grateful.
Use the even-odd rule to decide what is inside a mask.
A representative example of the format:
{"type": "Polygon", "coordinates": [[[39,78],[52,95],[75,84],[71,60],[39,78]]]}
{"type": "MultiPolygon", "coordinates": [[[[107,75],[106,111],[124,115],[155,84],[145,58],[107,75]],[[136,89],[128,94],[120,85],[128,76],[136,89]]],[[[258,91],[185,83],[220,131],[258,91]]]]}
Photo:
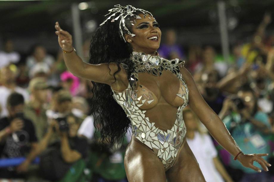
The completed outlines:
{"type": "Polygon", "coordinates": [[[199,163],[200,169],[207,182],[223,182],[221,175],[215,168],[213,158],[217,151],[208,134],[195,132],[194,138],[186,138],[186,141],[199,163]]]}

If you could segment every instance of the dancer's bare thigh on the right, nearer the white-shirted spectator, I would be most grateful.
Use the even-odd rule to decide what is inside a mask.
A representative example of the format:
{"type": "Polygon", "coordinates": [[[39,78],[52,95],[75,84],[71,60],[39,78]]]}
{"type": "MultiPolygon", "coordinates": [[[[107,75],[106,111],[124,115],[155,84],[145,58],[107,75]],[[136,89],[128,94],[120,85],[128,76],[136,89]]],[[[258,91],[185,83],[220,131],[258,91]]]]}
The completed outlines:
{"type": "Polygon", "coordinates": [[[178,154],[178,161],[166,172],[168,181],[196,182],[205,181],[199,164],[189,145],[184,143],[178,154]]]}

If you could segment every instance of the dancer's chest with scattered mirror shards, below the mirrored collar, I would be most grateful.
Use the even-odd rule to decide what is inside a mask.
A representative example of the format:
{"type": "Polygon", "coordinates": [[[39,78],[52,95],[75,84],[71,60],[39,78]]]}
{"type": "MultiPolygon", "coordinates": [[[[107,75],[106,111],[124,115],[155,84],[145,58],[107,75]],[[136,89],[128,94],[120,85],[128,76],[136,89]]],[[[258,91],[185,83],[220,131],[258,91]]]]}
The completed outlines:
{"type": "Polygon", "coordinates": [[[187,86],[175,74],[163,71],[161,76],[139,73],[136,82],[137,99],[147,99],[140,109],[150,109],[157,104],[175,107],[183,105],[187,97],[187,86]]]}

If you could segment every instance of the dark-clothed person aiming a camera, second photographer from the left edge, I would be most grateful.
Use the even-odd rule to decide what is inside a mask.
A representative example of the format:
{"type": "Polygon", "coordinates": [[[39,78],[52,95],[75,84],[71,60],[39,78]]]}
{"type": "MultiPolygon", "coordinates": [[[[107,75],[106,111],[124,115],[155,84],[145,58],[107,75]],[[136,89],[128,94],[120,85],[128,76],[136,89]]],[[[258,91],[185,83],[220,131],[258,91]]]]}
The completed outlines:
{"type": "Polygon", "coordinates": [[[51,120],[47,133],[29,157],[29,160],[33,160],[44,151],[40,162],[40,173],[44,179],[61,180],[75,162],[87,156],[87,139],[77,136],[80,123],[81,120],[73,114],[51,120]],[[60,142],[49,145],[55,132],[60,142]]]}

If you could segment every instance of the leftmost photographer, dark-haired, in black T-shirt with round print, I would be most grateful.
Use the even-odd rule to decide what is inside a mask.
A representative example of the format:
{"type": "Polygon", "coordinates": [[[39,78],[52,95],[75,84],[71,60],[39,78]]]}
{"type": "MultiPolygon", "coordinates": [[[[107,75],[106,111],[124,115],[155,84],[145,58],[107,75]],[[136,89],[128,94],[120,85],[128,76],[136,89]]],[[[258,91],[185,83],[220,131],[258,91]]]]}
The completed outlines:
{"type": "MultiPolygon", "coordinates": [[[[32,121],[23,115],[24,97],[12,93],[7,99],[8,117],[0,119],[0,155],[1,158],[24,157],[35,150],[37,138],[32,121]]],[[[0,169],[0,178],[23,178],[29,163],[26,160],[20,166],[0,169]],[[17,170],[17,171],[16,171],[17,170]]]]}

